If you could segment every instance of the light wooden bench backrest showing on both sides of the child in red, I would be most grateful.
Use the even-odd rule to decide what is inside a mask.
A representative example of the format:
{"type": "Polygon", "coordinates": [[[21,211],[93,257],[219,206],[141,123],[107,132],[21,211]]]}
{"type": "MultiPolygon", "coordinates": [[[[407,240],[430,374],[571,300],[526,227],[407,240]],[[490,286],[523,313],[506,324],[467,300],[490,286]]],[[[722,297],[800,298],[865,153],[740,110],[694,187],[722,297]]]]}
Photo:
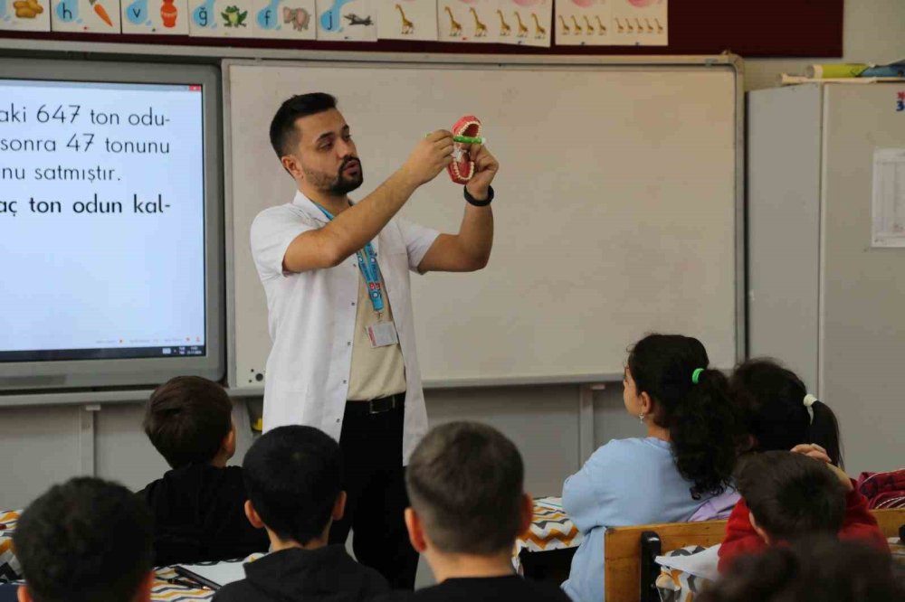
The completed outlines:
{"type": "MultiPolygon", "coordinates": [[[[872,510],[886,537],[898,537],[905,524],[905,508],[872,510]]],[[[662,551],[685,546],[715,546],[723,541],[726,521],[664,522],[611,527],[604,534],[605,597],[607,602],[638,602],[641,598],[641,534],[654,531],[662,551]]]]}

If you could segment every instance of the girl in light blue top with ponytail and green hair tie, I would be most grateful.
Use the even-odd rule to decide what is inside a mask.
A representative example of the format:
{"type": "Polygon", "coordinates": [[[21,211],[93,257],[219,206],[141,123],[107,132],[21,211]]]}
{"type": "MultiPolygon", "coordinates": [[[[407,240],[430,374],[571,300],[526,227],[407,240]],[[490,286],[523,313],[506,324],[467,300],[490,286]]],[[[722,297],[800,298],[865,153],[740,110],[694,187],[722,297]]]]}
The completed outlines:
{"type": "Polygon", "coordinates": [[[629,353],[623,400],[646,437],[610,441],[563,486],[585,536],[563,584],[576,602],[604,599],[607,527],[688,521],[729,488],[743,428],[726,377],[709,365],[704,345],[678,334],[648,335],[629,353]]]}

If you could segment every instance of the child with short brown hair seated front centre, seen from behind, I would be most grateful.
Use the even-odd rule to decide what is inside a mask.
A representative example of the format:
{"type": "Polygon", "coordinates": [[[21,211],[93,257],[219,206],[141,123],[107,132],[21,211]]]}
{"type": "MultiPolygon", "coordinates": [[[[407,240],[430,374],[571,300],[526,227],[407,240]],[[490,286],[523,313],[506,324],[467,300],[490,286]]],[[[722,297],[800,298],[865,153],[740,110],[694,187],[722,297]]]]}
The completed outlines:
{"type": "Polygon", "coordinates": [[[512,569],[516,538],[528,531],[533,503],[523,488],[519,450],[499,431],[474,422],[433,428],[415,447],[405,475],[412,506],[405,525],[439,585],[418,602],[567,602],[562,591],[512,569]]]}

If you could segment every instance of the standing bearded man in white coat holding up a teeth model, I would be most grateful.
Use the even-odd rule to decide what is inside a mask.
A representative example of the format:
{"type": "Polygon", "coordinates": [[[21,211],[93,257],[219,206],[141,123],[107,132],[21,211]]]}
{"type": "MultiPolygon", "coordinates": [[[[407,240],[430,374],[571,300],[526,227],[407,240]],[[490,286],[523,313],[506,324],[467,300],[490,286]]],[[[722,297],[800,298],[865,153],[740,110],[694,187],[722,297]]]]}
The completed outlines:
{"type": "MultiPolygon", "coordinates": [[[[475,169],[463,191],[462,226],[439,234],[395,214],[450,165],[450,132],[419,140],[395,174],[355,203],[348,193],[364,174],[336,99],[312,93],[286,100],[270,135],[298,190],[252,223],[273,341],[264,427],[304,424],[338,439],[348,498],[330,542],[346,541],[352,529],[357,559],[392,587],[411,589],[418,555],[403,519],[404,466],[427,415],[409,270],[468,272],[487,264],[499,165],[484,146],[469,148],[475,169]]],[[[456,300],[450,303],[456,311],[456,300]]]]}

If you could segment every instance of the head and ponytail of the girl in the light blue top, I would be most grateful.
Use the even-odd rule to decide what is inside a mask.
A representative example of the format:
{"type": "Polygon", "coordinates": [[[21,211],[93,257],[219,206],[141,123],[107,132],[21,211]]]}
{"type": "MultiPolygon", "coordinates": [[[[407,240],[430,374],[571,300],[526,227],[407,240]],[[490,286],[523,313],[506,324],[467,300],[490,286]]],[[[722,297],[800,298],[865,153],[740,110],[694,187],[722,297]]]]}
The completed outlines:
{"type": "Polygon", "coordinates": [[[726,377],[710,369],[704,345],[681,334],[648,334],[625,365],[625,409],[669,435],[675,466],[691,496],[720,494],[729,484],[742,439],[726,377]]]}

